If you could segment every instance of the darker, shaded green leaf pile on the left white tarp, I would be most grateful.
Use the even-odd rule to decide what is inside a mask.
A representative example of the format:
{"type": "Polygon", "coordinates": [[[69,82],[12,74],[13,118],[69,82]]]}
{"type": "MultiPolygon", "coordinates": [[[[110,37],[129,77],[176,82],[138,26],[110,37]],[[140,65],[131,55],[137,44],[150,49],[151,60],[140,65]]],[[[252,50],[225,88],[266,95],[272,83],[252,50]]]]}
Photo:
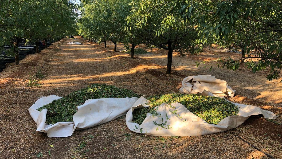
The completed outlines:
{"type": "Polygon", "coordinates": [[[73,115],[76,113],[76,107],[84,104],[88,99],[98,98],[125,98],[139,97],[138,94],[128,89],[118,88],[112,85],[93,84],[86,88],[70,93],[68,96],[52,101],[52,103],[38,108],[48,109],[46,116],[47,124],[57,122],[73,121],[73,115]]]}

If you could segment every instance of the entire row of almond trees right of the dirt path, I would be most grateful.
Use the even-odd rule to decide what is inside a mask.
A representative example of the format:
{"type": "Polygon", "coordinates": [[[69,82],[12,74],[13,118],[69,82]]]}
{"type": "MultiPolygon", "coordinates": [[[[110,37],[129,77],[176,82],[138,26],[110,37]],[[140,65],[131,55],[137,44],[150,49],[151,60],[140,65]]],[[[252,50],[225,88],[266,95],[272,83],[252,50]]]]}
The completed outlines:
{"type": "Polygon", "coordinates": [[[282,68],[281,25],[282,3],[274,0],[88,0],[77,23],[80,35],[105,47],[106,40],[131,44],[132,58],[141,43],[168,50],[167,74],[173,51],[198,54],[218,44],[242,54],[219,59],[218,66],[267,69],[268,80],[279,78],[282,68]]]}

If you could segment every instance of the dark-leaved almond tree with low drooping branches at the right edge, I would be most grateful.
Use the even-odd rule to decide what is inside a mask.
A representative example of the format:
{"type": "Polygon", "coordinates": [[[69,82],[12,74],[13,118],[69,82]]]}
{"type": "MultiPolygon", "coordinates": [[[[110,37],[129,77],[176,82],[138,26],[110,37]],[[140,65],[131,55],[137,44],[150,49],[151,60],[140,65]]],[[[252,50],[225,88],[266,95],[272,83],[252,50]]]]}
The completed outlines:
{"type": "MultiPolygon", "coordinates": [[[[269,69],[268,80],[278,79],[282,69],[282,3],[274,0],[226,0],[226,1],[172,1],[182,6],[180,17],[189,16],[189,5],[202,3],[198,8],[205,13],[200,34],[215,43],[235,43],[242,50],[239,59],[219,59],[223,67],[231,70],[240,63],[252,72],[269,69]],[[246,55],[245,55],[246,54],[246,55]]],[[[177,10],[175,10],[177,11],[177,10]]],[[[199,16],[200,17],[200,16],[199,16]]]]}

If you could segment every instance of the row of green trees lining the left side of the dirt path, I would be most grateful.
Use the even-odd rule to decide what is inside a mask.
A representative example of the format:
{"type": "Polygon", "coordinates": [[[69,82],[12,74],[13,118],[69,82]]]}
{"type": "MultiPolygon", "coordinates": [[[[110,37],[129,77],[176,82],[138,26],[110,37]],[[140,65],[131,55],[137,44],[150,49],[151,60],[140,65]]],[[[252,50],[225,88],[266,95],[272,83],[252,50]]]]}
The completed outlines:
{"type": "Polygon", "coordinates": [[[57,41],[75,31],[77,6],[69,0],[1,0],[0,7],[0,51],[11,46],[16,64],[19,40],[34,42],[38,53],[39,39],[57,41]]]}

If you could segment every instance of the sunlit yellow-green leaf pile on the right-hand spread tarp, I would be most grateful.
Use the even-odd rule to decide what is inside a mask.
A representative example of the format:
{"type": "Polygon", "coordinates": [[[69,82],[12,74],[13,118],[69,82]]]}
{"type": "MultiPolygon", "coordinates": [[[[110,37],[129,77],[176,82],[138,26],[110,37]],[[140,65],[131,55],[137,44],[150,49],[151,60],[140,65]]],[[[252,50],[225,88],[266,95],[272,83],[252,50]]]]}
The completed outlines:
{"type": "Polygon", "coordinates": [[[173,93],[149,96],[147,100],[151,101],[148,108],[140,108],[133,111],[133,122],[139,125],[144,121],[147,113],[157,115],[154,108],[162,103],[171,104],[178,102],[210,124],[218,124],[225,117],[237,115],[239,112],[237,106],[231,102],[213,96],[173,93]]]}

